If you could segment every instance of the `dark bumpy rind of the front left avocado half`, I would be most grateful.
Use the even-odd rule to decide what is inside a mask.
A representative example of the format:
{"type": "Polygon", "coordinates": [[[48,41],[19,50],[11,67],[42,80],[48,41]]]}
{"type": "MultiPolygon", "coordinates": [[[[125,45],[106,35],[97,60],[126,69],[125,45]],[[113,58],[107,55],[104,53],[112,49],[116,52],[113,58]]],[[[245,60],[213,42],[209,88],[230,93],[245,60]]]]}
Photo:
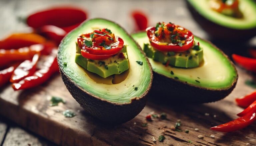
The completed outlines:
{"type": "MultiPolygon", "coordinates": [[[[101,19],[101,18],[96,18],[96,19],[101,19]]],[[[103,20],[105,20],[105,19],[103,19],[103,20]]],[[[87,20],[87,21],[89,21],[89,20],[87,20]]],[[[87,21],[85,21],[84,23],[86,23],[87,21]]],[[[107,21],[109,21],[109,20],[107,20],[107,21]]],[[[114,23],[114,22],[112,22],[112,23],[114,23]]],[[[82,24],[80,26],[82,26],[82,24]]],[[[118,25],[118,24],[116,24],[116,25],[118,25]]],[[[122,28],[121,26],[119,26],[119,27],[122,28]]],[[[70,32],[70,33],[72,33],[72,32],[70,32]]],[[[126,32],[126,35],[129,36],[129,38],[134,41],[134,39],[127,32],[126,32]]],[[[68,35],[66,35],[66,37],[67,36],[68,35]]],[[[63,40],[65,40],[65,38],[63,40]]],[[[60,46],[64,43],[63,40],[61,41],[61,43],[59,45],[59,50],[60,50],[60,46]]],[[[140,46],[137,43],[136,43],[136,46],[139,48],[140,52],[146,58],[145,53],[142,51],[142,49],[140,48],[140,46]]],[[[147,90],[141,96],[131,98],[130,103],[110,102],[110,101],[102,99],[102,98],[84,90],[63,72],[64,67],[62,64],[62,56],[60,55],[60,51],[58,52],[57,60],[58,60],[58,65],[59,65],[62,80],[63,80],[64,84],[66,85],[67,89],[69,90],[70,94],[80,104],[80,106],[85,109],[85,111],[87,113],[95,116],[99,120],[106,122],[108,124],[111,124],[111,125],[125,123],[125,122],[133,119],[136,115],[138,115],[141,112],[141,110],[145,107],[146,100],[147,100],[147,94],[151,88],[152,79],[153,79],[152,67],[147,58],[146,58],[146,63],[147,63],[147,65],[149,65],[149,70],[150,70],[149,77],[151,79],[150,83],[147,87],[147,90]]]]}

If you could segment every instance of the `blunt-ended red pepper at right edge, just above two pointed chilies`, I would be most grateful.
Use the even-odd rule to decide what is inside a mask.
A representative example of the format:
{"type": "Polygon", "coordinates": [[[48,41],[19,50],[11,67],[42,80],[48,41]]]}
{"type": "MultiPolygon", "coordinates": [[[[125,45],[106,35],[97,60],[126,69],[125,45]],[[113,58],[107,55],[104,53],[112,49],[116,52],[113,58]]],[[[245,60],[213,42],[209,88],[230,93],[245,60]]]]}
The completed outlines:
{"type": "Polygon", "coordinates": [[[251,94],[245,95],[242,98],[236,98],[236,103],[238,106],[246,108],[256,100],[256,91],[251,94]]]}

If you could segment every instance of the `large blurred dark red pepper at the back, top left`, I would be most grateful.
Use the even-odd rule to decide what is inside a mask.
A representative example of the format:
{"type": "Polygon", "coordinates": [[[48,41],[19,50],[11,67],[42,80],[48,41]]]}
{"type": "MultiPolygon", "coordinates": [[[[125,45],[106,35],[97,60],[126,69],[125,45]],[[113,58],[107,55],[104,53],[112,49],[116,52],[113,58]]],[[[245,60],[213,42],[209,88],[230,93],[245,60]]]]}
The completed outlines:
{"type": "Polygon", "coordinates": [[[27,18],[27,24],[35,29],[54,25],[69,32],[86,20],[87,14],[75,7],[55,7],[34,13],[27,18]]]}

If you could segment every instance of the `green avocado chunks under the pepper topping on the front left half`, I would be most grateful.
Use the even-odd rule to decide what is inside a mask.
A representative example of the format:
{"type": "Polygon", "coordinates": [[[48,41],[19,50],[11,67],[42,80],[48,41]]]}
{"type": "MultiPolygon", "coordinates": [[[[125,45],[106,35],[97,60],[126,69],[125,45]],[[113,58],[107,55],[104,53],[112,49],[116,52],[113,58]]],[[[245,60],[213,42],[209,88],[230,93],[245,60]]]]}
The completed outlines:
{"type": "Polygon", "coordinates": [[[113,74],[123,73],[129,69],[126,47],[124,47],[120,53],[106,60],[90,60],[76,53],[75,62],[87,71],[106,78],[113,74]],[[124,58],[119,58],[120,53],[123,53],[124,58]]]}

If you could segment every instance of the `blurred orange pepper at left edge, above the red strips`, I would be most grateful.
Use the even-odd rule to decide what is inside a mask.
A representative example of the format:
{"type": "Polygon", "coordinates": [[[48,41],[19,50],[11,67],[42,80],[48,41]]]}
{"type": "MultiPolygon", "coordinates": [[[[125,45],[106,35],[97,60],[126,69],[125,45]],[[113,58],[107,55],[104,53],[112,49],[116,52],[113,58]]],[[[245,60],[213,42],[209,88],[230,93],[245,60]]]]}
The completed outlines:
{"type": "Polygon", "coordinates": [[[12,34],[0,41],[0,49],[19,49],[44,42],[46,42],[46,39],[38,34],[12,34]]]}

